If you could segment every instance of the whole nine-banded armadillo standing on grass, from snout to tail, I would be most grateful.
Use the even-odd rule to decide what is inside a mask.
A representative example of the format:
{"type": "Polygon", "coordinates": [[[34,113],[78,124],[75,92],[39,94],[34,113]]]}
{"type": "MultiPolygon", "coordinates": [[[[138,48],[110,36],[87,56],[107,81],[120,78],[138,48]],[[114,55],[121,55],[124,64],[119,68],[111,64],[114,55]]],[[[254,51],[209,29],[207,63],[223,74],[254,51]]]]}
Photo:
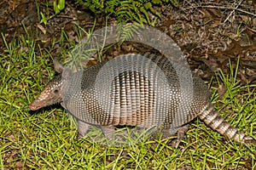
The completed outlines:
{"type": "Polygon", "coordinates": [[[192,86],[186,80],[181,81],[189,77],[189,69],[175,65],[166,57],[125,54],[73,74],[58,60],[54,63],[61,75],[51,80],[29,107],[36,111],[61,103],[77,118],[81,136],[90,125],[102,127],[107,136],[113,133],[109,129],[125,125],[162,128],[164,133],[177,133],[181,139],[188,123],[199,116],[207,125],[237,142],[255,142],[218,115],[209,100],[207,85],[200,77],[191,75],[192,86]]]}

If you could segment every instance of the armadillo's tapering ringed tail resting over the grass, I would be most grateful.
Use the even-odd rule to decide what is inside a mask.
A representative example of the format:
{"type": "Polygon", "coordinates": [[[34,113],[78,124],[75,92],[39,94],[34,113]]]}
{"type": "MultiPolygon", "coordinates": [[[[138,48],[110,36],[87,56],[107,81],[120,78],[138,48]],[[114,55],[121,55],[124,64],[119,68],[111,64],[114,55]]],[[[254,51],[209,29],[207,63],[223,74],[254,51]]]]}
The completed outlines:
{"type": "Polygon", "coordinates": [[[246,135],[245,133],[239,132],[237,128],[232,127],[229,122],[226,122],[222,116],[219,116],[213,105],[209,102],[201,114],[199,115],[201,120],[212,129],[218,131],[230,139],[235,139],[236,142],[242,144],[255,144],[256,140],[246,135]]]}

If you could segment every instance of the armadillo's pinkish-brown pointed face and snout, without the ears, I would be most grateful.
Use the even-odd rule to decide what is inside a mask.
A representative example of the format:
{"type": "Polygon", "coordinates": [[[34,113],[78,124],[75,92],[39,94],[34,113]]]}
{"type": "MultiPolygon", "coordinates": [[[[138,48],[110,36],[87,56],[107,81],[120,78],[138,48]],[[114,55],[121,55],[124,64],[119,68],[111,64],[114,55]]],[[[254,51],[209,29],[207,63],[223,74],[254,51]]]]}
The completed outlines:
{"type": "Polygon", "coordinates": [[[52,79],[44,88],[43,92],[35,99],[32,104],[28,105],[32,111],[36,111],[47,105],[53,105],[62,101],[61,86],[63,79],[61,75],[52,79]]]}

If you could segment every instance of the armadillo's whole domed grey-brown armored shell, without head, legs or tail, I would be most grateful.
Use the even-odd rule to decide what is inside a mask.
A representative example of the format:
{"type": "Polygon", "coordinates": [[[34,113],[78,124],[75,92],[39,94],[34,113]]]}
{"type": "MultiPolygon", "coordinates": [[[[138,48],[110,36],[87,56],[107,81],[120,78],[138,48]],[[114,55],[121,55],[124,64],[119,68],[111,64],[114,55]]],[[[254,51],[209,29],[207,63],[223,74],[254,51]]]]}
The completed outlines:
{"type": "Polygon", "coordinates": [[[189,84],[190,75],[188,68],[162,56],[125,54],[69,77],[62,88],[63,104],[79,120],[95,125],[176,129],[209,102],[206,84],[192,75],[189,84]],[[181,99],[191,100],[183,105],[181,99]]]}

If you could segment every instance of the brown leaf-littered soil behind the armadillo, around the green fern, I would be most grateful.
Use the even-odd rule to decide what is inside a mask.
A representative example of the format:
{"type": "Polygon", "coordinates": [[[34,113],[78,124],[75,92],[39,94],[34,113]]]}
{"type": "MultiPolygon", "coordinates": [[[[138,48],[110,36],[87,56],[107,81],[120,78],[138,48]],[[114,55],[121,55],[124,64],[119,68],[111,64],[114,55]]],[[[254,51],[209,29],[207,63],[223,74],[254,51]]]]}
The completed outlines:
{"type": "MultiPolygon", "coordinates": [[[[156,27],[165,31],[177,42],[186,54],[192,71],[203,79],[210,80],[214,72],[219,69],[229,73],[229,59],[236,68],[237,59],[240,58],[238,78],[241,84],[247,82],[255,84],[256,4],[253,1],[228,2],[184,1],[180,3],[179,8],[172,6],[157,8],[165,11],[157,20],[156,27]]],[[[53,38],[58,40],[61,29],[67,32],[70,41],[79,42],[76,24],[84,30],[90,30],[94,26],[95,19],[96,29],[106,23],[102,16],[95,16],[82,5],[67,0],[61,14],[55,15],[44,26],[39,24],[37,5],[44,14],[47,10],[53,10],[46,8],[44,3],[43,0],[38,1],[38,4],[32,0],[3,0],[0,3],[0,32],[3,32],[7,42],[15,41],[20,35],[26,37],[24,27],[41,49],[49,47],[53,38]]],[[[49,14],[54,14],[54,11],[49,11],[49,14]]],[[[110,19],[108,25],[114,22],[114,19],[110,19]]],[[[133,52],[131,46],[136,52],[148,52],[148,48],[128,42],[122,48],[109,49],[108,55],[131,53],[133,52]]],[[[1,51],[5,49],[2,39],[0,49],[1,51]]],[[[51,53],[58,55],[60,50],[55,48],[51,53]]]]}

